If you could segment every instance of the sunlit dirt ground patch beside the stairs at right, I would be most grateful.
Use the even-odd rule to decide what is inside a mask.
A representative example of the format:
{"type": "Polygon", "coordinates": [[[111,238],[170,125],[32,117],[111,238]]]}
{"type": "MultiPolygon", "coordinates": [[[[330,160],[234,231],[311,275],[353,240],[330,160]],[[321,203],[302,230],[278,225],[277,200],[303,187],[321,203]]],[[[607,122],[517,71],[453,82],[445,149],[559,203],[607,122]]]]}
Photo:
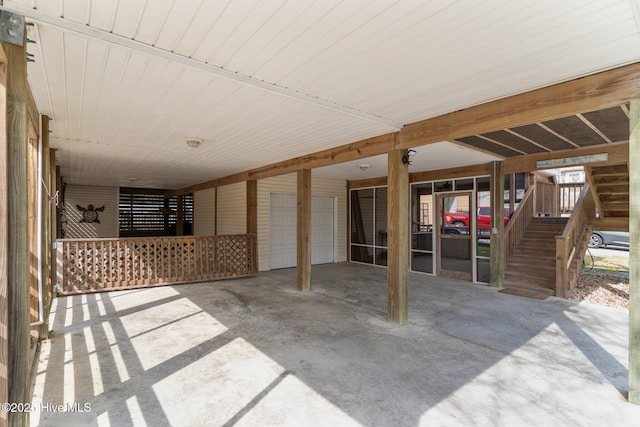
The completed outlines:
{"type": "Polygon", "coordinates": [[[569,292],[567,298],[628,309],[629,272],[583,270],[576,288],[569,292]]]}

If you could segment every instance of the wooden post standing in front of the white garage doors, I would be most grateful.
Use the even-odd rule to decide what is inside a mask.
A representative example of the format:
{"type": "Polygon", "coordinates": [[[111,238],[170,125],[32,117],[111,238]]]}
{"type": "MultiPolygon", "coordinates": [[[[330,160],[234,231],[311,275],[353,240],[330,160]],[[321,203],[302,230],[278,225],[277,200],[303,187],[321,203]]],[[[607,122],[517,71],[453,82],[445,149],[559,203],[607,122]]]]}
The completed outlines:
{"type": "Polygon", "coordinates": [[[311,169],[298,171],[298,290],[311,290],[311,169]]]}

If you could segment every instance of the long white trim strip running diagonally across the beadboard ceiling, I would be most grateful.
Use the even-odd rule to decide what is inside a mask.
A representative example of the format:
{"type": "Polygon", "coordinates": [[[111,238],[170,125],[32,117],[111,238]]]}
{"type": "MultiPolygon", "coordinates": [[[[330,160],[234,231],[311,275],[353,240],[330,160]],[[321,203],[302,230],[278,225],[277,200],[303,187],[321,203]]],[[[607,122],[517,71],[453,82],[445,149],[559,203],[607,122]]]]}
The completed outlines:
{"type": "Polygon", "coordinates": [[[358,109],[349,107],[347,105],[338,104],[336,102],[315,97],[313,95],[298,92],[286,87],[278,86],[275,83],[269,83],[263,80],[255,79],[253,77],[238,74],[236,72],[226,70],[224,68],[221,68],[215,65],[207,64],[192,58],[188,58],[186,56],[178,55],[177,53],[169,52],[167,50],[160,49],[145,43],[141,43],[136,40],[128,39],[113,33],[99,30],[99,29],[90,27],[88,25],[82,25],[76,22],[69,21],[64,18],[50,16],[36,9],[25,9],[22,7],[5,5],[5,6],[0,6],[0,10],[6,10],[19,15],[23,15],[25,18],[32,21],[36,21],[40,24],[48,25],[64,31],[70,31],[73,33],[81,34],[86,37],[91,37],[96,40],[122,46],[124,48],[130,49],[136,52],[140,52],[146,55],[155,56],[158,58],[166,59],[168,61],[183,64],[191,68],[206,71],[215,76],[233,80],[247,86],[262,89],[270,93],[275,93],[280,96],[306,102],[308,104],[315,105],[317,107],[321,107],[337,113],[346,114],[352,117],[356,117],[358,119],[367,120],[369,122],[384,125],[390,128],[391,131],[400,130],[404,126],[403,123],[393,119],[380,117],[375,114],[367,113],[365,111],[360,111],[358,109]]]}

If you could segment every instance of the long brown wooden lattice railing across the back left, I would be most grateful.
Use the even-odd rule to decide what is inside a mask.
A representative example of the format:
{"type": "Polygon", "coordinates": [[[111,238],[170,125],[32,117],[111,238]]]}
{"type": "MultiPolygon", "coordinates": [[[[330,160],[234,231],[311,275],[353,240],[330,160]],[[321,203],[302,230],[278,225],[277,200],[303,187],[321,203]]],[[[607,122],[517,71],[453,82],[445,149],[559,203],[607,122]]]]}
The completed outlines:
{"type": "Polygon", "coordinates": [[[60,294],[201,282],[257,272],[255,234],[62,239],[56,243],[60,294]]]}

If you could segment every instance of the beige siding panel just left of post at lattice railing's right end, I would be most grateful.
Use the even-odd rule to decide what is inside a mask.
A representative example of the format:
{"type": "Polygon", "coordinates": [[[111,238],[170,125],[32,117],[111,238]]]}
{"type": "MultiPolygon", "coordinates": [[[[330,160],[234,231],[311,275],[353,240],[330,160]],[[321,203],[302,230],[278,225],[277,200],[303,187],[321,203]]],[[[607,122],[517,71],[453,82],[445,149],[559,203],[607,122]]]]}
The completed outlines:
{"type": "Polygon", "coordinates": [[[218,187],[218,234],[244,234],[247,228],[247,184],[218,187]]]}

